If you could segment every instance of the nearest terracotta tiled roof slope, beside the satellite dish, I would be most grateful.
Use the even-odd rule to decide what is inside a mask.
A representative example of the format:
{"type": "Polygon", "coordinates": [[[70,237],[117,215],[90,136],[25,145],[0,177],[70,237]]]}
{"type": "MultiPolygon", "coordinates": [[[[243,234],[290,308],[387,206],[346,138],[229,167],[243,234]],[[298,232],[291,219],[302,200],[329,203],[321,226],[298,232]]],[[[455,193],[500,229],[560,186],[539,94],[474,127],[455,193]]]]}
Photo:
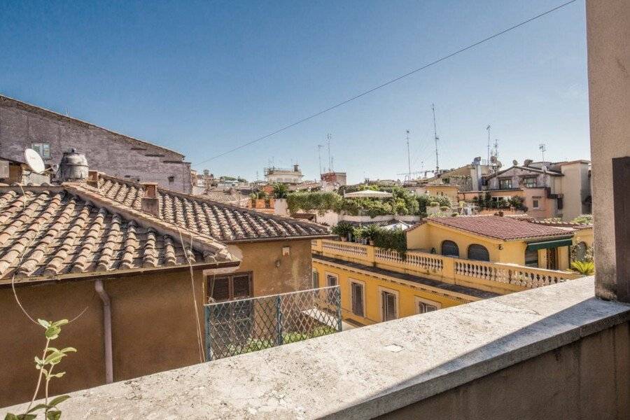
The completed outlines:
{"type": "MultiPolygon", "coordinates": [[[[179,235],[128,210],[112,212],[64,186],[0,188],[0,283],[14,273],[25,280],[188,265],[179,235]]],[[[222,244],[199,243],[186,246],[193,264],[235,260],[222,244]]]]}

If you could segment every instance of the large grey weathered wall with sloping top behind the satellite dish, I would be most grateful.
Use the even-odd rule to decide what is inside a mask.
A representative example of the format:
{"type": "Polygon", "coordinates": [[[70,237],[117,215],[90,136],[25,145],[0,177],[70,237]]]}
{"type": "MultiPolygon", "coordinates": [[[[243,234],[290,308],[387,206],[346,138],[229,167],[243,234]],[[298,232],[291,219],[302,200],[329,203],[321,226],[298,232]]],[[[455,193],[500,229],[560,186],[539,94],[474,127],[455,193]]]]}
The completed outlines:
{"type": "Polygon", "coordinates": [[[0,156],[23,161],[24,149],[36,142],[50,144],[47,164],[58,164],[64,151],[76,148],[85,153],[90,169],[183,193],[192,190],[190,163],[181,153],[0,95],[0,156]]]}

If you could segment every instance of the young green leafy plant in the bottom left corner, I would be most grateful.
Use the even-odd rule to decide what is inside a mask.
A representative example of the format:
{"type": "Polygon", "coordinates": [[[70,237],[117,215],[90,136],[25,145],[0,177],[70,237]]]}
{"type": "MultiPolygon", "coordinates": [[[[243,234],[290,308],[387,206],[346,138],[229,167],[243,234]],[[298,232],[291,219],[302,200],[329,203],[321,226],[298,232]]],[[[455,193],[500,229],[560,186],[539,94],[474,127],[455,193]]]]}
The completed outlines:
{"type": "Polygon", "coordinates": [[[73,347],[65,347],[64,349],[59,350],[55,347],[50,346],[50,342],[52,340],[59,338],[62,326],[66,325],[66,323],[68,323],[68,320],[62,319],[59,321],[49,322],[44,321],[43,319],[38,319],[37,322],[39,323],[39,325],[45,328],[44,335],[46,337],[46,345],[44,347],[42,357],[38,358],[37,356],[35,356],[35,368],[39,371],[35,393],[33,394],[33,398],[31,399],[31,402],[29,403],[24,414],[8,413],[4,417],[4,420],[36,419],[38,416],[37,412],[41,412],[41,410],[43,410],[43,415],[46,420],[59,420],[61,418],[62,412],[59,407],[57,407],[57,405],[70,398],[70,395],[59,395],[58,397],[52,398],[52,400],[48,401],[50,380],[52,378],[60,378],[66,373],[52,373],[52,371],[55,369],[55,366],[62,361],[64,357],[68,356],[67,353],[76,351],[76,349],[74,349],[73,347]],[[41,388],[42,379],[44,379],[44,402],[43,404],[33,406],[35,399],[37,398],[37,394],[39,393],[39,390],[41,388]]]}

